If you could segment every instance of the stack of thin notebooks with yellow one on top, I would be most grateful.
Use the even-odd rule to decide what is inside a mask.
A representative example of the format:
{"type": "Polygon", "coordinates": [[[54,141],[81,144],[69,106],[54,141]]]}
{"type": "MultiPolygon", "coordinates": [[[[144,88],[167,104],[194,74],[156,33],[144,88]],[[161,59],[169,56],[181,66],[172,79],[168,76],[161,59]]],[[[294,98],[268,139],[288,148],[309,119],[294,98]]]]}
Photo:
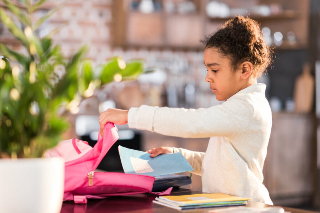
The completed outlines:
{"type": "Polygon", "coordinates": [[[173,209],[197,209],[218,206],[246,205],[249,198],[242,198],[223,193],[168,195],[156,197],[154,203],[173,209]]]}

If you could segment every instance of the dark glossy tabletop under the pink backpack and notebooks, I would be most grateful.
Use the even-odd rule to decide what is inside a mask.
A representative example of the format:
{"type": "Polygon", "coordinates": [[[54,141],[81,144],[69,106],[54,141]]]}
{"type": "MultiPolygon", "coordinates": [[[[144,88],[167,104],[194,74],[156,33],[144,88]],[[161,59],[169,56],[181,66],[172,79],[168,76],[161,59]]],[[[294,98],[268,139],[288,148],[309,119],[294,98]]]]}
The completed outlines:
{"type": "MultiPolygon", "coordinates": [[[[189,188],[176,188],[173,189],[171,195],[184,195],[184,194],[201,194],[199,191],[193,191],[189,188]]],[[[65,201],[62,204],[61,213],[117,213],[117,212],[130,212],[130,213],[173,213],[173,212],[190,212],[190,213],[208,213],[210,210],[220,209],[215,208],[201,208],[201,209],[188,209],[177,210],[165,207],[152,201],[155,200],[157,195],[152,194],[136,194],[130,196],[113,196],[106,199],[93,200],[88,199],[87,204],[75,204],[73,201],[65,201]]],[[[270,207],[265,203],[248,201],[247,206],[263,208],[270,207]]],[[[303,209],[294,209],[283,207],[285,211],[292,213],[314,213],[303,209]]]]}

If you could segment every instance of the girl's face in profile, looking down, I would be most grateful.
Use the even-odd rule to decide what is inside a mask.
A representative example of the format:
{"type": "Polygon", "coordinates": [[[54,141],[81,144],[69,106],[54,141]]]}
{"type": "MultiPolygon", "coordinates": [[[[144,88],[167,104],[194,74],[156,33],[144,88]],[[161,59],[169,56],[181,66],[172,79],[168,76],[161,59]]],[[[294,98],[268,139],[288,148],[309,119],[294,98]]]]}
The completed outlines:
{"type": "Polygon", "coordinates": [[[216,48],[204,50],[204,64],[208,69],[205,81],[210,83],[210,89],[218,101],[225,101],[243,89],[242,69],[234,71],[231,60],[216,48]]]}

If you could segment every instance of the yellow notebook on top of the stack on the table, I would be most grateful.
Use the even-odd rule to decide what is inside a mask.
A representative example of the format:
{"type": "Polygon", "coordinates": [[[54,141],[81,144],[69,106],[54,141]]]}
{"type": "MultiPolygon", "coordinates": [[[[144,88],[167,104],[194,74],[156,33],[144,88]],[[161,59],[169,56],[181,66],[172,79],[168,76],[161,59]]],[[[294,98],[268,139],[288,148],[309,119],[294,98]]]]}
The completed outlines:
{"type": "Polygon", "coordinates": [[[205,204],[205,203],[228,203],[236,201],[248,201],[250,198],[237,197],[224,193],[213,193],[213,194],[188,194],[188,195],[167,195],[159,196],[156,200],[171,202],[184,205],[192,204],[205,204]]]}

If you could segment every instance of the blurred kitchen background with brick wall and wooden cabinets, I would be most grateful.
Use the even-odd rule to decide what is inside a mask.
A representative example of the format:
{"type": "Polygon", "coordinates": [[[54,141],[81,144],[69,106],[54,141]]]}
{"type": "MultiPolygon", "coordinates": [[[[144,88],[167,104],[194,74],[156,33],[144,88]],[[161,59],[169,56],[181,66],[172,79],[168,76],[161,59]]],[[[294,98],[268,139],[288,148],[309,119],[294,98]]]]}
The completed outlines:
{"type": "MultiPolygon", "coordinates": [[[[49,0],[37,16],[61,3],[37,33],[45,36],[56,29],[54,41],[62,44],[66,56],[87,45],[87,57],[97,65],[121,56],[143,58],[145,68],[154,70],[136,81],[107,85],[69,116],[72,127],[65,138],[77,137],[92,146],[99,114],[108,108],[220,104],[204,80],[204,45],[199,40],[235,15],[258,20],[266,42],[275,47],[274,64],[259,79],[267,85],[273,111],[264,184],[275,205],[319,210],[319,0],[49,0]]],[[[0,42],[24,51],[2,25],[0,42]]],[[[208,143],[208,138],[167,137],[126,125],[118,128],[120,139],[100,169],[122,170],[119,144],[140,150],[174,146],[205,151],[208,143]]],[[[201,190],[201,177],[192,176],[192,182],[193,189],[201,190]]]]}

